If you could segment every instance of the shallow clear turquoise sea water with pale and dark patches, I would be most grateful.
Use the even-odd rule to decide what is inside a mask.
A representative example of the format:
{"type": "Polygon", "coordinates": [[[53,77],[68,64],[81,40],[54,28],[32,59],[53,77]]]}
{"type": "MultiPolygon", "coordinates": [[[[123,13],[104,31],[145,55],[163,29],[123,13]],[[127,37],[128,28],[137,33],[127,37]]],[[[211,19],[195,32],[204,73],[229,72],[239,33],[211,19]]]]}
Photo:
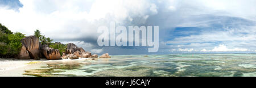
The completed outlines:
{"type": "Polygon", "coordinates": [[[46,62],[25,76],[222,77],[256,76],[256,54],[121,55],[46,62]]]}

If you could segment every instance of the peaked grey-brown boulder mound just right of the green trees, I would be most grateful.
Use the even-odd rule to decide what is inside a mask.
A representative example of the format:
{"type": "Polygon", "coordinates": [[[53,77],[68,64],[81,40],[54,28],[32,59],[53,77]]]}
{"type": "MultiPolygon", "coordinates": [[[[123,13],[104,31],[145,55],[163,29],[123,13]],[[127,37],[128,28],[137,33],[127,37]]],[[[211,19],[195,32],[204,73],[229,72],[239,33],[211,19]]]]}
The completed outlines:
{"type": "Polygon", "coordinates": [[[84,49],[82,49],[81,47],[77,47],[73,43],[68,43],[65,53],[67,53],[69,55],[69,54],[74,53],[76,51],[85,52],[84,49]]]}

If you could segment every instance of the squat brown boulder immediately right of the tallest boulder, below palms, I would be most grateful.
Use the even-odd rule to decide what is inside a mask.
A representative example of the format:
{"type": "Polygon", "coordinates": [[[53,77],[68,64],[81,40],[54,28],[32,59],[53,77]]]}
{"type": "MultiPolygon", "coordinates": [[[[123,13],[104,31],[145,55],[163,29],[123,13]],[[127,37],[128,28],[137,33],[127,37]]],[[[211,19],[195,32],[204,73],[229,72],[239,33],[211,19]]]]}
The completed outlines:
{"type": "Polygon", "coordinates": [[[47,60],[59,60],[61,59],[60,51],[58,49],[53,49],[43,45],[42,53],[46,56],[47,60]]]}

